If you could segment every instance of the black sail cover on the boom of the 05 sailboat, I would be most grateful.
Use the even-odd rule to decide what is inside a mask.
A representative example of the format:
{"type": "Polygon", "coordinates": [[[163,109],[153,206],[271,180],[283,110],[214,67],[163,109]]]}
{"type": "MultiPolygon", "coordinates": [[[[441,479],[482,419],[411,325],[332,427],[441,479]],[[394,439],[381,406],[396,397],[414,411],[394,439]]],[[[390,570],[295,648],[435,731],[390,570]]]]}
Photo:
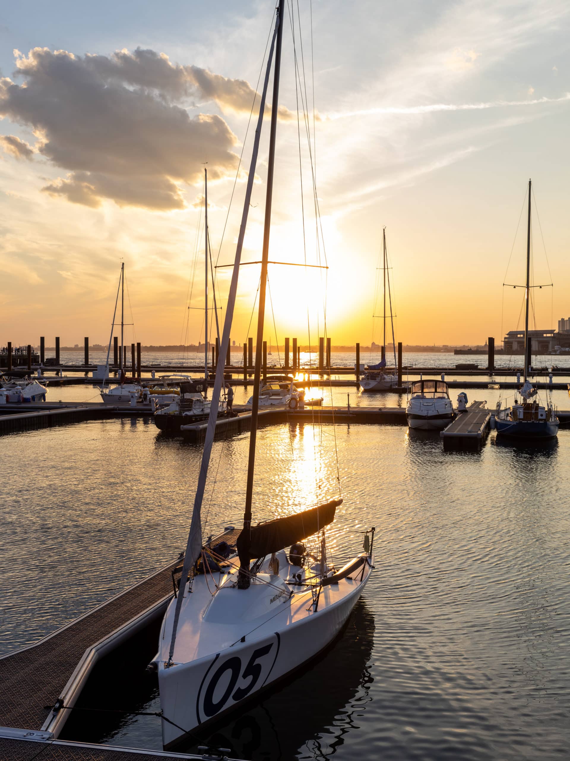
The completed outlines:
{"type": "Polygon", "coordinates": [[[253,526],[249,532],[242,531],[236,542],[240,565],[249,568],[252,558],[262,558],[311,537],[334,521],[334,512],[339,505],[342,505],[342,499],[333,499],[325,505],[253,526]]]}

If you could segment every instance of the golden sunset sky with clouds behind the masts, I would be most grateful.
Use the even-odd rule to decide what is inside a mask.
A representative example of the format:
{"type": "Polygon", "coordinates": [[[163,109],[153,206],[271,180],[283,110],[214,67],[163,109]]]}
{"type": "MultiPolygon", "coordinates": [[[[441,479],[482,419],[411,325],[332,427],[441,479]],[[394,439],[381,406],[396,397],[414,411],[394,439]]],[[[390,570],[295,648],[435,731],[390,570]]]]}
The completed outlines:
{"type": "MultiPolygon", "coordinates": [[[[204,161],[216,258],[274,5],[3,6],[0,344],[35,344],[40,335],[49,345],[55,335],[64,344],[84,336],[107,342],[122,260],[137,340],[204,340],[201,312],[186,310],[194,263],[191,306],[203,304],[204,161]]],[[[271,266],[279,342],[306,342],[308,304],[316,342],[325,297],[334,344],[372,339],[384,225],[396,340],[483,343],[515,329],[522,293],[505,291],[503,303],[502,282],[529,177],[549,263],[535,218],[535,282],[551,282],[549,272],[554,282],[536,291],[537,327],[570,317],[568,2],[301,0],[299,8],[311,126],[314,78],[312,151],[329,269],[271,266]]],[[[297,24],[296,14],[295,0],[297,24]]],[[[301,65],[298,27],[296,46],[301,65]]],[[[289,15],[279,105],[270,259],[301,263],[289,15]]],[[[317,263],[302,113],[300,119],[306,257],[317,263]]],[[[253,129],[220,263],[235,253],[253,129]]],[[[268,133],[267,118],[244,261],[261,258],[268,133]]],[[[524,282],[525,213],[506,282],[524,282]]],[[[230,270],[221,272],[225,306],[230,270]]],[[[238,343],[247,336],[258,277],[258,266],[240,273],[232,330],[238,343]]],[[[375,322],[378,342],[382,326],[375,322]]],[[[272,323],[268,304],[265,334],[274,340],[272,323]]]]}

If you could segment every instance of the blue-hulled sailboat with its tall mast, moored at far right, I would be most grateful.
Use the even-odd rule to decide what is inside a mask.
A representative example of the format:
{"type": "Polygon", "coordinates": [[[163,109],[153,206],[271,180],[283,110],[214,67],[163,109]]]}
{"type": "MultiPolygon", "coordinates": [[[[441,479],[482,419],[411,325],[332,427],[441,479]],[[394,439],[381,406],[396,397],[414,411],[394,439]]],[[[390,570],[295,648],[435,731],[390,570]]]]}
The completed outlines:
{"type": "MultiPolygon", "coordinates": [[[[515,403],[510,407],[501,409],[501,401],[497,405],[495,415],[495,428],[497,435],[510,436],[521,439],[537,438],[555,438],[558,435],[560,421],[556,415],[556,409],[552,400],[546,405],[541,405],[534,400],[537,396],[537,389],[533,387],[528,380],[532,352],[530,351],[530,338],[528,335],[528,314],[530,307],[531,288],[537,286],[530,285],[530,199],[532,197],[532,183],[528,180],[528,219],[527,219],[527,280],[524,285],[525,289],[525,311],[524,311],[524,380],[521,388],[521,402],[515,397],[515,403]]],[[[514,286],[523,287],[523,286],[514,286]]],[[[543,286],[540,285],[540,288],[543,286]]],[[[548,392],[546,392],[548,395],[548,392]]]]}

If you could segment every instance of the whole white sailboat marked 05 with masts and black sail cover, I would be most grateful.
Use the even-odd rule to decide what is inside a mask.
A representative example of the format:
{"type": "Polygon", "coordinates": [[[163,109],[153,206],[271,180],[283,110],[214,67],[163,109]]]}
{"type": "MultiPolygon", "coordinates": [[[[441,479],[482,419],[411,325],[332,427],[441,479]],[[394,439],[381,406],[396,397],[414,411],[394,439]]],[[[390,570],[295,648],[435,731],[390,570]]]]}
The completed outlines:
{"type": "Polygon", "coordinates": [[[262,688],[274,684],[325,648],[344,626],[372,570],[372,546],[366,540],[365,552],[340,571],[335,572],[328,565],[325,527],[334,520],[340,499],[299,514],[252,525],[284,5],[284,0],[280,0],[261,94],[188,545],[178,594],[166,611],[159,651],[154,659],[166,748],[173,747],[197,728],[218,721],[226,712],[241,706],[246,699],[251,699],[262,688]],[[223,358],[230,342],[243,237],[274,49],[268,187],[244,521],[241,530],[229,527],[215,545],[212,542],[204,545],[201,502],[223,386],[223,358]],[[315,533],[320,548],[316,560],[307,556],[305,546],[299,542],[315,533]],[[287,546],[291,546],[289,554],[285,551],[287,546]],[[253,564],[252,560],[255,560],[253,564]]]}

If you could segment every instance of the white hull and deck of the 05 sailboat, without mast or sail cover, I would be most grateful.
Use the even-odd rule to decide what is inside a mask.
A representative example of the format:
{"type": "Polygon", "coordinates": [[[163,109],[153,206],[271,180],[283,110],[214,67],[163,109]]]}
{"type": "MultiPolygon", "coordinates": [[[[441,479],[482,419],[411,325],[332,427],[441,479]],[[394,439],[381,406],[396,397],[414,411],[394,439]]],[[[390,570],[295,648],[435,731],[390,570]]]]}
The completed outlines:
{"type": "MultiPolygon", "coordinates": [[[[156,658],[160,705],[169,720],[162,722],[166,749],[219,721],[326,648],[347,622],[373,562],[363,553],[313,588],[306,584],[318,568],[291,565],[283,551],[277,559],[280,573],[261,572],[246,590],[234,586],[237,568],[220,572],[219,578],[196,576],[182,603],[185,623],[173,664],[166,667],[176,600],[170,603],[156,658]],[[207,584],[213,581],[218,587],[214,596],[207,584]],[[191,660],[180,663],[177,651],[191,660]]],[[[262,571],[269,571],[267,563],[262,571]]]]}

